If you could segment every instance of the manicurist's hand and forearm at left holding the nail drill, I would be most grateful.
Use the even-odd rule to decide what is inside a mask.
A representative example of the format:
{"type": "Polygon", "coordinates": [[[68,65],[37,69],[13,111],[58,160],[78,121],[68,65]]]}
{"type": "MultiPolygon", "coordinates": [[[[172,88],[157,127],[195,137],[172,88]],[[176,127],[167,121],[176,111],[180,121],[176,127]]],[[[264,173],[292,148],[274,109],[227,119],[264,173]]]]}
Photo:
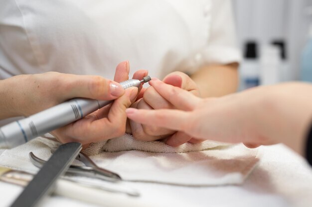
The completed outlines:
{"type": "MultiPolygon", "coordinates": [[[[63,143],[78,141],[82,144],[122,136],[126,131],[125,110],[138,95],[138,88],[124,90],[118,83],[128,79],[129,70],[129,62],[120,63],[114,81],[101,76],[58,72],[17,75],[0,80],[0,119],[29,116],[77,97],[116,99],[113,104],[51,134],[63,143]]],[[[133,78],[142,79],[147,73],[138,70],[133,78]]]]}

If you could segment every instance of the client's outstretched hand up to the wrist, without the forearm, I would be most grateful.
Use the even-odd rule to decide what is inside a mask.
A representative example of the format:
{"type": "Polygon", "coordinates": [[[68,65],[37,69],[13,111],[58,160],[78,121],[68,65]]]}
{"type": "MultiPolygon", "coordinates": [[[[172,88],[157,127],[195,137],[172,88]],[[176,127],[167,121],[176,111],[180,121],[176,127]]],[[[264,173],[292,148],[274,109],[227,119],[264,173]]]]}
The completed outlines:
{"type": "MultiPolygon", "coordinates": [[[[171,105],[165,105],[167,109],[162,110],[127,109],[128,118],[137,123],[178,131],[197,139],[244,142],[249,147],[278,142],[259,131],[263,123],[256,119],[259,111],[256,107],[259,97],[264,95],[261,91],[202,99],[160,80],[152,80],[150,85],[171,105]]],[[[184,141],[183,136],[171,139],[175,139],[171,140],[175,143],[184,141]]]]}

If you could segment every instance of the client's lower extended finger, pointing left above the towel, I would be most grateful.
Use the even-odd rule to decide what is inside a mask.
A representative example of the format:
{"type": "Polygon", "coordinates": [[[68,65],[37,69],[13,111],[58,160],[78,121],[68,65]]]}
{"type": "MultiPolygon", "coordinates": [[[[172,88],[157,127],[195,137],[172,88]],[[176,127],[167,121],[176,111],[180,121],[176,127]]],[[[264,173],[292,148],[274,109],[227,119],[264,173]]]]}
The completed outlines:
{"type": "Polygon", "coordinates": [[[172,109],[138,110],[129,108],[126,109],[126,113],[129,119],[137,123],[154,125],[175,131],[185,130],[189,120],[188,112],[172,109]]]}

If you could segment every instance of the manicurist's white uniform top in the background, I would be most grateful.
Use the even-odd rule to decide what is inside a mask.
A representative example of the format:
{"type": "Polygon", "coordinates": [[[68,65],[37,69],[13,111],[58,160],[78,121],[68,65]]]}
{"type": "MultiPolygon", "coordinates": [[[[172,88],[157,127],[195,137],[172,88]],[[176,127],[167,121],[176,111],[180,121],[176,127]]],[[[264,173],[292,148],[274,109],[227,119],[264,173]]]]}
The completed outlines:
{"type": "Polygon", "coordinates": [[[162,78],[240,61],[231,0],[1,0],[0,79],[59,71],[162,78]]]}

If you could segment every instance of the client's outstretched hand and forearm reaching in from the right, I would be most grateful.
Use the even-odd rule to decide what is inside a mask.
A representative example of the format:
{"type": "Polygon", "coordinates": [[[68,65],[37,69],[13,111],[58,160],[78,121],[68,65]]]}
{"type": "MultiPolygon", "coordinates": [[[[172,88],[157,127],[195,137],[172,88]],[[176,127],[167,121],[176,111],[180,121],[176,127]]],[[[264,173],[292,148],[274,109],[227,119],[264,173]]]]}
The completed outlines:
{"type": "Polygon", "coordinates": [[[302,155],[305,153],[312,123],[311,84],[291,82],[257,87],[220,98],[199,98],[157,79],[150,84],[175,109],[127,109],[128,118],[137,123],[198,140],[243,142],[252,148],[284,143],[302,155]]]}

